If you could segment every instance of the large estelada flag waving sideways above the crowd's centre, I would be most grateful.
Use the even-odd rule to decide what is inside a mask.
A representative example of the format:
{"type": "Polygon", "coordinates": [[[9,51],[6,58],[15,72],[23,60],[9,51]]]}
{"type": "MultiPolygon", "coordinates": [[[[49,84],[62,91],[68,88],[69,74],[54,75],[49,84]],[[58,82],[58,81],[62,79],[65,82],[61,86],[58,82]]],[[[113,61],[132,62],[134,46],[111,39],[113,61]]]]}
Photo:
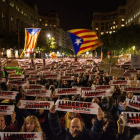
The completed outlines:
{"type": "Polygon", "coordinates": [[[73,29],[68,31],[74,48],[75,55],[95,50],[103,45],[95,32],[88,29],[73,29]]]}

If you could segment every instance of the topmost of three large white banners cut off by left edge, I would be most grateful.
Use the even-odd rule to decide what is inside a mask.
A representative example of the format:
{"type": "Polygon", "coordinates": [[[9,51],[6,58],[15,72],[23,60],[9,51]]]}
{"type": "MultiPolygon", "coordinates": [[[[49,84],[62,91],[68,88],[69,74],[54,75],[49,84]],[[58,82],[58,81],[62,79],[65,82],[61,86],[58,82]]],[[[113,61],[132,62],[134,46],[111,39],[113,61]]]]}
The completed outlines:
{"type": "Polygon", "coordinates": [[[0,91],[0,99],[15,99],[18,92],[16,91],[0,91]]]}

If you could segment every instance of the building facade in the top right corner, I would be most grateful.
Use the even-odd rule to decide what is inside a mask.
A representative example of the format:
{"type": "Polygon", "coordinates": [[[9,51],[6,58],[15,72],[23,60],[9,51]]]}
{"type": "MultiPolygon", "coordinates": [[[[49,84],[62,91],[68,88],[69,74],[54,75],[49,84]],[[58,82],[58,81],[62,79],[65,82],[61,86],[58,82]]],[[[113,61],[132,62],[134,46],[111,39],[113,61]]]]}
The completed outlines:
{"type": "Polygon", "coordinates": [[[140,24],[140,0],[126,1],[126,25],[140,24]]]}

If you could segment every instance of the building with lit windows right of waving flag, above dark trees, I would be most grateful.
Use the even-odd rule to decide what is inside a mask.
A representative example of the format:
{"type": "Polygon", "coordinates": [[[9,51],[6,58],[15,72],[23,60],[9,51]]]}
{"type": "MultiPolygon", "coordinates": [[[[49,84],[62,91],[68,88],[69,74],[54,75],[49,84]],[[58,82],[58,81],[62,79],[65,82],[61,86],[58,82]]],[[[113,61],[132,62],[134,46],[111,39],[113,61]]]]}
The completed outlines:
{"type": "Polygon", "coordinates": [[[100,37],[105,33],[115,33],[117,29],[125,26],[125,6],[119,6],[116,11],[93,13],[92,30],[100,37]]]}

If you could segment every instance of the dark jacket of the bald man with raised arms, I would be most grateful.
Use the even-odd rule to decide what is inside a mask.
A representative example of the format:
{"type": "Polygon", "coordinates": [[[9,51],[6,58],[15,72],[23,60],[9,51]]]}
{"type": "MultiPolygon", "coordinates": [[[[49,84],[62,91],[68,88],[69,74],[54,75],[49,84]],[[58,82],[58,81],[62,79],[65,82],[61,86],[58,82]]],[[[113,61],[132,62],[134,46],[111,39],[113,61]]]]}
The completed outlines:
{"type": "Polygon", "coordinates": [[[103,120],[98,121],[96,119],[91,130],[83,128],[81,134],[78,136],[78,138],[75,139],[69,133],[69,129],[66,130],[61,127],[56,113],[49,113],[48,119],[51,130],[55,134],[55,136],[57,136],[58,140],[99,140],[103,130],[103,120]]]}

